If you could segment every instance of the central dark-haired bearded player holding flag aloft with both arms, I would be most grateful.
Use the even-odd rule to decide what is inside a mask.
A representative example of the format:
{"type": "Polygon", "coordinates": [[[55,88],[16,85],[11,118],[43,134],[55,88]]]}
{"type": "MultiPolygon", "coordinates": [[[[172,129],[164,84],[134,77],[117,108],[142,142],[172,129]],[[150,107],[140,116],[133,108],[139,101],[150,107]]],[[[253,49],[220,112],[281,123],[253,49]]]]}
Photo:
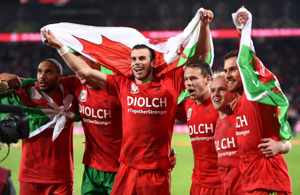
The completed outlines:
{"type": "MultiPolygon", "coordinates": [[[[210,51],[210,10],[201,14],[201,29],[194,56],[188,61],[206,60],[210,51]],[[206,16],[204,16],[206,14],[206,16]]],[[[111,194],[170,194],[170,143],[184,66],[161,76],[153,75],[155,52],[136,45],[130,55],[135,80],[95,71],[66,51],[51,31],[42,31],[78,75],[118,96],[122,105],[123,142],[118,170],[111,194]]],[[[185,64],[184,64],[185,65],[185,64]]]]}

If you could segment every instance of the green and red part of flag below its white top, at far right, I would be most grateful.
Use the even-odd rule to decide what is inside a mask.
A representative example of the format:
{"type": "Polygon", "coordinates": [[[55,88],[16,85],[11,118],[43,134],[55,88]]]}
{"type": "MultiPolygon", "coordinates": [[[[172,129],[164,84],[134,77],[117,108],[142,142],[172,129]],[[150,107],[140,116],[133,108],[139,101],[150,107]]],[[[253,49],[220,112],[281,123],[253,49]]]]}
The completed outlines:
{"type": "Polygon", "coordinates": [[[278,109],[280,109],[280,114],[278,115],[280,139],[289,140],[291,138],[291,129],[287,122],[288,101],[283,95],[277,79],[272,77],[273,74],[262,64],[259,64],[258,61],[258,58],[255,56],[255,53],[250,50],[249,46],[243,44],[240,50],[238,64],[242,72],[242,79],[244,80],[244,90],[251,96],[252,101],[255,100],[263,104],[278,106],[278,109]],[[260,80],[259,74],[254,70],[260,73],[265,82],[260,80]],[[267,77],[270,79],[266,79],[267,77]]]}

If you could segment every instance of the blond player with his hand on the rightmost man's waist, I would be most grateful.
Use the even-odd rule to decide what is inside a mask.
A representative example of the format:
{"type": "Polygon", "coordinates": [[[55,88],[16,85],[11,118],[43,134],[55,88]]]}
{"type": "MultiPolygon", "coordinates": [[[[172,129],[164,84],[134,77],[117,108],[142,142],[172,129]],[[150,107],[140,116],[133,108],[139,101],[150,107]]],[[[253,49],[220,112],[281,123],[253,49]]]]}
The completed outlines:
{"type": "MultiPolygon", "coordinates": [[[[219,111],[219,119],[215,130],[215,147],[218,154],[219,175],[222,181],[223,195],[242,195],[242,176],[240,171],[240,156],[236,141],[236,115],[232,113],[228,105],[237,98],[237,93],[228,91],[225,73],[216,72],[210,82],[211,101],[214,108],[219,111]]],[[[260,144],[262,153],[266,157],[275,156],[278,153],[287,153],[291,145],[286,141],[275,142],[272,139],[264,139],[267,143],[260,144]]]]}

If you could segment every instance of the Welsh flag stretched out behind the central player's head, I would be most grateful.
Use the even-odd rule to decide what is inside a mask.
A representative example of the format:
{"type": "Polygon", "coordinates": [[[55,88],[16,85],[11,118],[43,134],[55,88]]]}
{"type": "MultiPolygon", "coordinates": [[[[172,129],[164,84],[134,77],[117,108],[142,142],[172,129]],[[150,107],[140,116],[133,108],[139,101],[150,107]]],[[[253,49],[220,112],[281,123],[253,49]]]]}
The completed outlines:
{"type": "MultiPolygon", "coordinates": [[[[93,27],[72,23],[50,24],[41,29],[50,29],[56,38],[69,48],[101,65],[106,74],[123,75],[133,78],[130,67],[130,53],[136,44],[145,44],[155,50],[157,76],[182,65],[195,53],[200,31],[200,8],[184,31],[175,37],[161,40],[145,38],[140,32],[127,27],[93,27]]],[[[46,39],[41,32],[43,41],[46,39]]],[[[211,38],[210,38],[211,39],[211,38]]],[[[206,60],[212,65],[214,54],[211,50],[206,60]]],[[[188,96],[182,93],[179,102],[188,96]]]]}

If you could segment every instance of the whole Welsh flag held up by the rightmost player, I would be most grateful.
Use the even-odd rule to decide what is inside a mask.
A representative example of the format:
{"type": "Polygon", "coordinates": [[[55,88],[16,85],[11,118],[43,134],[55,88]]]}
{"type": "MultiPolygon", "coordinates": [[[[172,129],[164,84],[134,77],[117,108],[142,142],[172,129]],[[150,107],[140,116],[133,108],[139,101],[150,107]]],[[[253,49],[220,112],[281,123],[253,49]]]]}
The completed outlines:
{"type": "MultiPolygon", "coordinates": [[[[240,8],[236,13],[232,14],[236,27],[239,25],[239,22],[236,21],[238,12],[248,11],[245,8],[240,8]]],[[[265,68],[256,56],[251,40],[252,14],[250,12],[248,14],[249,20],[242,29],[239,55],[236,61],[242,77],[244,92],[250,101],[278,106],[278,119],[281,124],[280,137],[290,139],[291,129],[287,122],[289,103],[280,88],[276,76],[265,68]]]]}

